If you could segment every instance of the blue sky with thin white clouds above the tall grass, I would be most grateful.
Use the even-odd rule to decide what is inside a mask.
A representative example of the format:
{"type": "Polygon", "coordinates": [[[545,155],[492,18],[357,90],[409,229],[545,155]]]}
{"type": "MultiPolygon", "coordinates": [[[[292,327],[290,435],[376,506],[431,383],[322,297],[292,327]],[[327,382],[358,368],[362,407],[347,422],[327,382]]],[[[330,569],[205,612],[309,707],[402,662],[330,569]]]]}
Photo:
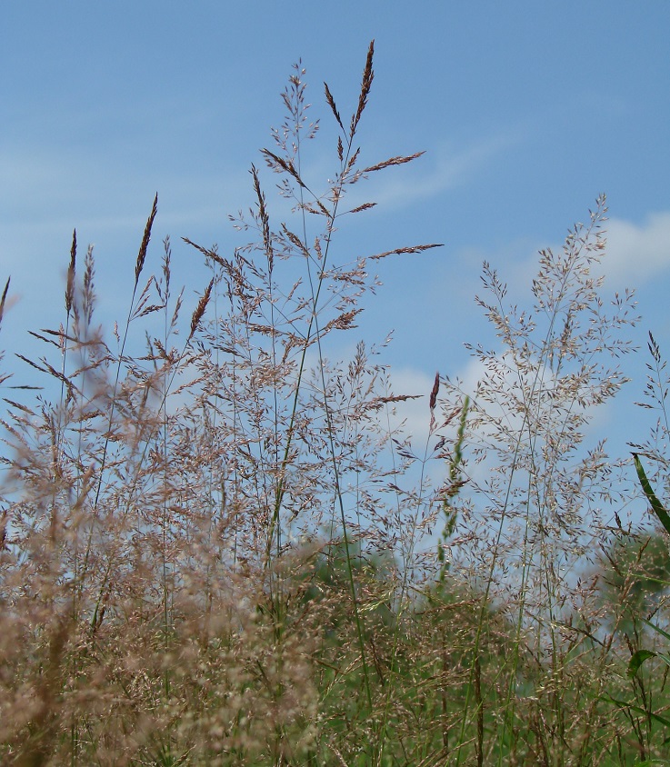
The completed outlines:
{"type": "MultiPolygon", "coordinates": [[[[109,327],[125,318],[157,192],[147,268],[159,269],[170,234],[175,280],[192,306],[209,273],[180,238],[218,243],[222,253],[241,244],[227,214],[253,202],[248,169],[262,164],[258,150],[282,120],[291,65],[302,58],[314,116],[326,124],[323,81],[350,113],[372,38],[364,161],[426,154],[379,175],[369,196],[380,204],[344,242],[370,253],[445,243],[386,259],[385,285],[366,301],[360,334],[378,341],[395,329],[385,359],[398,384],[428,393],[436,369],[466,371],[464,342],[494,340],[474,302],[482,262],[516,288],[536,251],[561,244],[603,192],[608,284],[637,289],[638,343],[652,329],[670,354],[665,0],[5,0],[0,29],[0,279],[12,275],[17,299],[2,341],[15,383],[27,371],[11,353],[44,352],[26,331],[64,317],[73,228],[80,254],[95,244],[99,319],[109,327]]],[[[332,146],[314,152],[325,182],[336,168],[332,146]]],[[[269,191],[273,179],[265,181],[269,191]]],[[[524,300],[520,287],[515,300],[524,300]]],[[[645,436],[632,406],[645,361],[638,355],[635,383],[599,422],[620,448],[645,436]]]]}

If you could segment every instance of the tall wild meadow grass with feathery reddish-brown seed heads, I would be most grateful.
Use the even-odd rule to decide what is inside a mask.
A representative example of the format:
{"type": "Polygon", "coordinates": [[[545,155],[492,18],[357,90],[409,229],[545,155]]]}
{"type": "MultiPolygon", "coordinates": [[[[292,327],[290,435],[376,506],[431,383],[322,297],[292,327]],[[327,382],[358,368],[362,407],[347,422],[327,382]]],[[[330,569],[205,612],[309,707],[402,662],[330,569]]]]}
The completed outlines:
{"type": "MultiPolygon", "coordinates": [[[[169,239],[145,275],[157,198],[111,338],[74,234],[65,318],[24,358],[53,399],[5,399],[3,764],[662,763],[666,533],[622,522],[635,467],[584,436],[626,383],[636,320],[633,295],[607,302],[594,276],[605,199],[540,254],[528,309],[485,264],[497,345],[470,347],[475,391],[435,376],[428,443],[412,445],[388,424],[415,393],[391,389],[383,350],[328,355],[376,261],[437,246],[338,248],[373,206],[353,194],[365,179],[420,155],[363,163],[373,61],[371,44],[349,120],[325,86],[323,192],[295,67],[262,151],[291,218],[274,224],[252,165],[253,205],[233,219],[248,244],[185,239],[211,270],[190,318],[169,239]]],[[[643,405],[660,416],[633,447],[658,513],[667,381],[650,338],[643,405]]]]}

